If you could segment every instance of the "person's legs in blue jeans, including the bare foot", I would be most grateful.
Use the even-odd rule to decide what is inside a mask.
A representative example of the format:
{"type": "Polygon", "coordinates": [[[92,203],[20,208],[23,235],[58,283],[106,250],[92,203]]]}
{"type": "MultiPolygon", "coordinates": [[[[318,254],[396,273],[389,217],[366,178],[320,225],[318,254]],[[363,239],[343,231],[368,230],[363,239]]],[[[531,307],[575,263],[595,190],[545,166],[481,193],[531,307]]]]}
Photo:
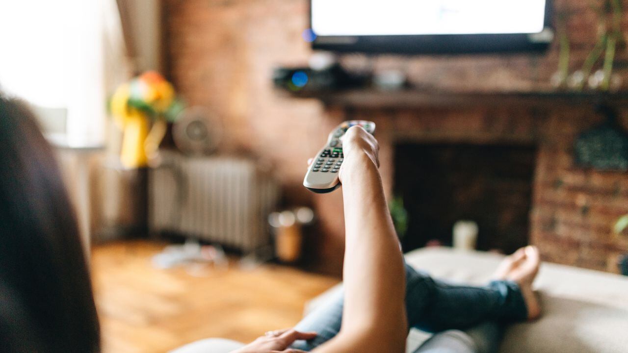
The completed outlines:
{"type": "MultiPolygon", "coordinates": [[[[409,327],[428,332],[470,329],[467,332],[475,333],[472,337],[476,343],[494,346],[497,339],[492,340],[492,337],[499,336],[495,334],[499,327],[494,327],[495,323],[481,323],[507,323],[530,317],[528,301],[521,288],[531,291],[539,261],[538,253],[528,253],[526,255],[520,250],[504,259],[495,273],[496,280],[484,287],[449,285],[406,264],[406,314],[409,327]],[[476,325],[479,325],[479,329],[471,329],[476,325]]],[[[343,292],[337,290],[295,327],[303,332],[318,332],[318,337],[308,342],[297,341],[293,347],[311,350],[332,339],[340,332],[342,308],[343,292]]],[[[446,337],[435,337],[431,345],[443,342],[446,337]]],[[[480,351],[490,352],[487,349],[480,351]]]]}

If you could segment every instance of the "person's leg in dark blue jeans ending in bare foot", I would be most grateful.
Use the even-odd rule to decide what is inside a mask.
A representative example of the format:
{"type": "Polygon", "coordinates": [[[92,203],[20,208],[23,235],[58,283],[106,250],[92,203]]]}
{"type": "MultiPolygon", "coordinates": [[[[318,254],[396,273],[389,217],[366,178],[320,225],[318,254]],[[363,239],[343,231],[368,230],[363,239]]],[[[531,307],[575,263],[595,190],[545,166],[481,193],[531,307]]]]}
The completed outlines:
{"type": "Polygon", "coordinates": [[[522,247],[507,256],[485,287],[448,285],[406,269],[408,322],[428,332],[466,329],[480,322],[501,323],[538,317],[532,283],[540,264],[538,249],[522,247]]]}

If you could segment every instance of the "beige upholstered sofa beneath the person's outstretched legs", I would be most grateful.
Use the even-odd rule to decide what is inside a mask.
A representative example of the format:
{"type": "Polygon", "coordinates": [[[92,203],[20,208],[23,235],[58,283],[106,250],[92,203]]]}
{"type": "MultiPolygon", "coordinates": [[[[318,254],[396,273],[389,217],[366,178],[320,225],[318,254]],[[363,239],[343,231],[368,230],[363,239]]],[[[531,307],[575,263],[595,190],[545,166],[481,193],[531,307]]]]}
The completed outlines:
{"type": "MultiPolygon", "coordinates": [[[[419,249],[406,255],[409,264],[437,278],[477,284],[489,279],[501,258],[496,254],[458,252],[445,247],[419,249]]],[[[533,323],[509,327],[501,353],[628,352],[628,278],[545,263],[535,286],[541,296],[543,317],[533,323]]],[[[320,305],[325,295],[310,301],[306,312],[320,305]]],[[[411,330],[408,352],[413,352],[429,336],[411,330]]],[[[226,353],[240,345],[209,339],[173,353],[226,353]]]]}

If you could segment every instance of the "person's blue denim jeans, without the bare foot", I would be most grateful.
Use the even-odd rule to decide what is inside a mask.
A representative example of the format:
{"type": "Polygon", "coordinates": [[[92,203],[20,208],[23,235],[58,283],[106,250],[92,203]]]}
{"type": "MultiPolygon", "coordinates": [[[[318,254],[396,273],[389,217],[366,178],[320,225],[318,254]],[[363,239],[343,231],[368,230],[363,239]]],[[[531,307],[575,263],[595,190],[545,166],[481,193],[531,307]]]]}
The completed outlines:
{"type": "MultiPolygon", "coordinates": [[[[517,318],[526,315],[525,307],[521,308],[521,295],[519,301],[516,300],[516,286],[507,285],[504,281],[495,281],[485,288],[447,285],[406,265],[406,288],[408,323],[428,332],[468,329],[484,320],[512,316],[513,311],[517,318]]],[[[292,347],[312,350],[337,335],[342,324],[343,301],[342,289],[330,293],[325,303],[295,326],[301,332],[317,332],[318,337],[296,341],[292,347]]],[[[480,331],[472,341],[489,345],[490,338],[494,336],[480,331]]],[[[434,347],[436,342],[459,343],[458,337],[460,335],[450,332],[431,339],[427,347],[434,347]]]]}

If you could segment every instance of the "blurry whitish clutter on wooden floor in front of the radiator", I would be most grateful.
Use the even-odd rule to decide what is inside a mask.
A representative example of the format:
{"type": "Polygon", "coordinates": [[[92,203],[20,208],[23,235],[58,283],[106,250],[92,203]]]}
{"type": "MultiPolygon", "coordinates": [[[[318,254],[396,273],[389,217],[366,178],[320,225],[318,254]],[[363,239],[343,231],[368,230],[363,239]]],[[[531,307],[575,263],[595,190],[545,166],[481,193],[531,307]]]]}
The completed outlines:
{"type": "Polygon", "coordinates": [[[161,269],[188,266],[188,273],[193,276],[208,274],[213,269],[229,268],[229,261],[220,246],[202,246],[198,241],[188,240],[183,245],[166,246],[161,253],[153,256],[153,266],[161,269]]]}

